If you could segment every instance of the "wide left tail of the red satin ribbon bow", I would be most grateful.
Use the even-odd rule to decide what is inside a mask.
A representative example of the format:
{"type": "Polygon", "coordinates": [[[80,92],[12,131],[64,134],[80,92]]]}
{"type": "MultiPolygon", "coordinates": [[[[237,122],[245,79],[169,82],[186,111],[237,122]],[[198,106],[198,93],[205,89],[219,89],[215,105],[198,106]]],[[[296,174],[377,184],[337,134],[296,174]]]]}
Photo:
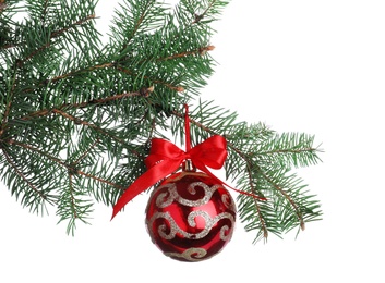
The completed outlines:
{"type": "Polygon", "coordinates": [[[148,187],[160,181],[165,176],[175,172],[180,164],[180,161],[164,160],[160,163],[149,168],[144,174],[139,176],[118,199],[113,206],[111,220],[118,212],[134,197],[146,190],[148,187]]]}

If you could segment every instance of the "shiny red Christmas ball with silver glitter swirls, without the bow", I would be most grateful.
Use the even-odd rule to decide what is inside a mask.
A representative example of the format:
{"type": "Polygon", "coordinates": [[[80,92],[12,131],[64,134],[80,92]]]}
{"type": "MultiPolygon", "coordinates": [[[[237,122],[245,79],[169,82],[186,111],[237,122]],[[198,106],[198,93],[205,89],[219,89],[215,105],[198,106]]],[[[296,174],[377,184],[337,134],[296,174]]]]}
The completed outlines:
{"type": "Polygon", "coordinates": [[[168,257],[201,261],[217,255],[230,241],[236,206],[218,181],[202,172],[183,171],[153,192],[146,226],[153,243],[168,257]]]}

